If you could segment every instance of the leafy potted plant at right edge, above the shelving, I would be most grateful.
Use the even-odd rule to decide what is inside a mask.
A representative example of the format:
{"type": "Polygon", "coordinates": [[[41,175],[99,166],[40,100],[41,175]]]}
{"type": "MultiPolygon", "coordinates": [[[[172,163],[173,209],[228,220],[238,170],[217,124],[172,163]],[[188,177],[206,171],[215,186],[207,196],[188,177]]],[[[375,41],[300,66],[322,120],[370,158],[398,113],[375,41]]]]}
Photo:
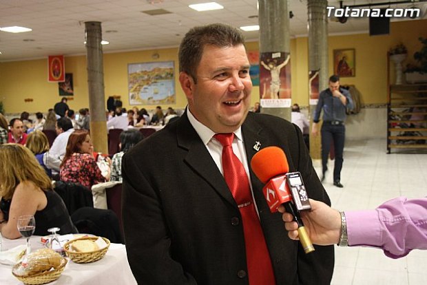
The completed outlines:
{"type": "Polygon", "coordinates": [[[407,83],[427,82],[427,39],[419,37],[418,40],[422,43],[422,46],[421,50],[414,54],[417,64],[408,63],[404,71],[407,83]]]}

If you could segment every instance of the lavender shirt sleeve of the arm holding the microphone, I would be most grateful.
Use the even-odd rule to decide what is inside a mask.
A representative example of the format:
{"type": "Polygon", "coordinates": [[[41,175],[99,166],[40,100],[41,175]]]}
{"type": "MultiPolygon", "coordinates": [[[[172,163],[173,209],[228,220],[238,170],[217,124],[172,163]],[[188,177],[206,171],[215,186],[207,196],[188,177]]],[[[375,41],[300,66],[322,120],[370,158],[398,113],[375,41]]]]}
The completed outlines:
{"type": "Polygon", "coordinates": [[[389,200],[371,211],[346,211],[349,246],[373,246],[388,257],[427,249],[427,198],[389,200]]]}

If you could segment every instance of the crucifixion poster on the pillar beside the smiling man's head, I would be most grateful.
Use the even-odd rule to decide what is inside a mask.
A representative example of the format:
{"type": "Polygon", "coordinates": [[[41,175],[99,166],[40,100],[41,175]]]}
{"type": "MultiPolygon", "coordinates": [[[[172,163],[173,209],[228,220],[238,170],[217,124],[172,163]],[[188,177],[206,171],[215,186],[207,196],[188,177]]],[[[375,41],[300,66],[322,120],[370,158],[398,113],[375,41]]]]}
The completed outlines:
{"type": "Polygon", "coordinates": [[[261,54],[261,107],[291,107],[290,59],[289,52],[264,52],[261,54]]]}

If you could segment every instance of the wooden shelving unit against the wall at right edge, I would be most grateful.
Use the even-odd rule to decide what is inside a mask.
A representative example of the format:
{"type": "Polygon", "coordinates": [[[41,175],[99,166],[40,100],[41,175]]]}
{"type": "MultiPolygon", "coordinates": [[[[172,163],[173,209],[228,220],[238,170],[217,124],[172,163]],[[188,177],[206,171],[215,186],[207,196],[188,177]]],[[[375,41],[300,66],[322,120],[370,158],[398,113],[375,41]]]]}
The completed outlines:
{"type": "Polygon", "coordinates": [[[388,85],[387,152],[427,153],[427,83],[388,85]]]}

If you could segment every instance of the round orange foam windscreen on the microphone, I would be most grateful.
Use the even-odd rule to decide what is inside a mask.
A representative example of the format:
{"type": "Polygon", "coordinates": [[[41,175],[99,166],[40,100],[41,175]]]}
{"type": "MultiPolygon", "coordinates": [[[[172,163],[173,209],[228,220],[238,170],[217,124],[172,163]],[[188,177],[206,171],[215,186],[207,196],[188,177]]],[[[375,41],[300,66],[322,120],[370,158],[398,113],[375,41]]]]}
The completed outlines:
{"type": "Polygon", "coordinates": [[[289,171],[288,160],[279,147],[265,147],[258,151],[251,160],[251,167],[263,183],[289,171]]]}

